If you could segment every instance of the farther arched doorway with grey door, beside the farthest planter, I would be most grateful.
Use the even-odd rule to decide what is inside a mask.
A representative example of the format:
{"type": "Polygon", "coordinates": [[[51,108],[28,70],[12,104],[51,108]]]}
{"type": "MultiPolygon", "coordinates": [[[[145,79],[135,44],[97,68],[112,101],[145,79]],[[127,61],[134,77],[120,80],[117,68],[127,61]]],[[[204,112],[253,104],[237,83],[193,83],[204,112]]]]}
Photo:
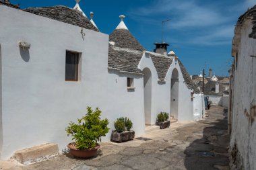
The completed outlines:
{"type": "Polygon", "coordinates": [[[179,73],[177,69],[172,71],[172,79],[170,81],[170,115],[174,119],[178,119],[179,113],[179,73]]]}

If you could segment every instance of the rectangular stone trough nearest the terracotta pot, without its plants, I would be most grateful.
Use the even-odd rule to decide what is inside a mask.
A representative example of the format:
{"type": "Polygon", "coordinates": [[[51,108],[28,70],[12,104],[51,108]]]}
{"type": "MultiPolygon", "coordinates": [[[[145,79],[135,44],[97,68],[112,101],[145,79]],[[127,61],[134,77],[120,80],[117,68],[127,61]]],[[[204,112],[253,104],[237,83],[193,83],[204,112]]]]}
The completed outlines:
{"type": "Polygon", "coordinates": [[[133,130],[125,131],[125,132],[121,132],[121,133],[112,131],[111,141],[125,142],[127,140],[133,140],[134,136],[135,136],[135,132],[133,130]]]}

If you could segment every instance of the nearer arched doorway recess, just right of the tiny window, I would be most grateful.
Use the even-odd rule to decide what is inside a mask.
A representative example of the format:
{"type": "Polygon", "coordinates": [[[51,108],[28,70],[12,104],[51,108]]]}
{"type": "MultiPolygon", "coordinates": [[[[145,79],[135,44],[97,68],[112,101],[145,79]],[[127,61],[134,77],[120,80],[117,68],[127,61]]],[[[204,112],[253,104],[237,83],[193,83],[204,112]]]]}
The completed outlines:
{"type": "Polygon", "coordinates": [[[151,93],[152,93],[152,76],[150,69],[143,69],[144,80],[144,112],[145,124],[151,124],[151,93]]]}

